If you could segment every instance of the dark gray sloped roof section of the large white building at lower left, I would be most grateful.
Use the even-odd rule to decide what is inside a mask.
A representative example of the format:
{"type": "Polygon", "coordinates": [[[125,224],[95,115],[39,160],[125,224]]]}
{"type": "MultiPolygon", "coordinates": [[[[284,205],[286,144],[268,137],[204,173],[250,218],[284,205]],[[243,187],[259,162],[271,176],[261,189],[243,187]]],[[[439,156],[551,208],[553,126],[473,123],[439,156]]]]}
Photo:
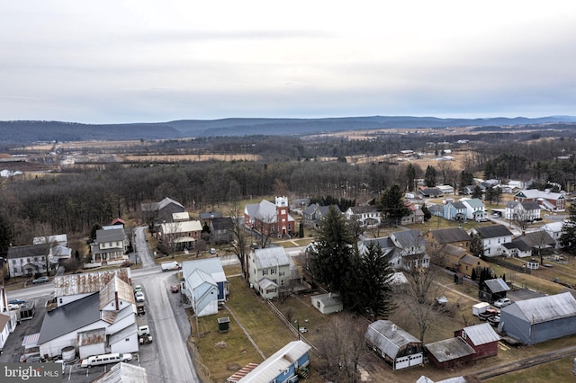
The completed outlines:
{"type": "Polygon", "coordinates": [[[100,294],[94,293],[48,311],[40,328],[38,344],[47,343],[58,336],[98,322],[100,320],[99,296],[100,294]]]}

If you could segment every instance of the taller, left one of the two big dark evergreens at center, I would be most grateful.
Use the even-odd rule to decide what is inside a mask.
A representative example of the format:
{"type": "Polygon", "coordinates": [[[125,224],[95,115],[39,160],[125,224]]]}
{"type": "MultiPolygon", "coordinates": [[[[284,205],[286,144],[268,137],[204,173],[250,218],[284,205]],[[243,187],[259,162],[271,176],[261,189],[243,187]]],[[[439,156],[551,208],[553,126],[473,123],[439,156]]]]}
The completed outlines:
{"type": "Polygon", "coordinates": [[[316,245],[311,252],[310,269],[316,281],[327,289],[346,296],[347,272],[351,270],[355,254],[354,236],[344,216],[330,206],[328,214],[320,221],[316,245]]]}

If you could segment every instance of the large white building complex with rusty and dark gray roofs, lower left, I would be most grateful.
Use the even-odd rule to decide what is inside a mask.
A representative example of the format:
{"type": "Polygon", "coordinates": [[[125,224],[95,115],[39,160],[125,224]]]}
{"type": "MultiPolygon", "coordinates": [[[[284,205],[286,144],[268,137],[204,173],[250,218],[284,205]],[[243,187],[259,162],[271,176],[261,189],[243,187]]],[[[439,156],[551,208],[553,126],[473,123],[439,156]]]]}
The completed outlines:
{"type": "Polygon", "coordinates": [[[62,355],[73,347],[80,358],[138,352],[130,271],[71,274],[55,278],[54,302],[47,306],[38,345],[40,355],[62,355]],[[121,277],[124,275],[124,277],[121,277]]]}

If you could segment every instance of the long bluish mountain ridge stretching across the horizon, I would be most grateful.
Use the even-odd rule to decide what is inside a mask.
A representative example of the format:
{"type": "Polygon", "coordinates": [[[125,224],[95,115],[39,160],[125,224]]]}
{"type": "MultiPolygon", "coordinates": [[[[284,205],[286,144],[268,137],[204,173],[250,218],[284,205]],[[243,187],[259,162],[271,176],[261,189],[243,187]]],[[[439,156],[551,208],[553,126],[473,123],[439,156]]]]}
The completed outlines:
{"type": "Polygon", "coordinates": [[[0,121],[0,142],[170,139],[250,135],[305,135],[359,129],[439,129],[467,126],[515,126],[573,123],[573,116],[529,119],[441,119],[437,117],[367,116],[322,119],[229,118],[221,120],[173,120],[151,123],[83,124],[76,122],[0,121]]]}

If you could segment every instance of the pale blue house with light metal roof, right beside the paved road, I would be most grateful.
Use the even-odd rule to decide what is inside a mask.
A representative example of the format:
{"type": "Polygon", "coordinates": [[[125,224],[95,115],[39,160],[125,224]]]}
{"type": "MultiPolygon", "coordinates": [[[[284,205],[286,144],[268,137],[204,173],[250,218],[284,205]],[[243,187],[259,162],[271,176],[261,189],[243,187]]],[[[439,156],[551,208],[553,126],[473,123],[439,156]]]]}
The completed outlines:
{"type": "Polygon", "coordinates": [[[219,302],[224,302],[229,295],[229,281],[220,257],[184,261],[182,274],[182,292],[194,313],[197,316],[217,314],[219,302]]]}

